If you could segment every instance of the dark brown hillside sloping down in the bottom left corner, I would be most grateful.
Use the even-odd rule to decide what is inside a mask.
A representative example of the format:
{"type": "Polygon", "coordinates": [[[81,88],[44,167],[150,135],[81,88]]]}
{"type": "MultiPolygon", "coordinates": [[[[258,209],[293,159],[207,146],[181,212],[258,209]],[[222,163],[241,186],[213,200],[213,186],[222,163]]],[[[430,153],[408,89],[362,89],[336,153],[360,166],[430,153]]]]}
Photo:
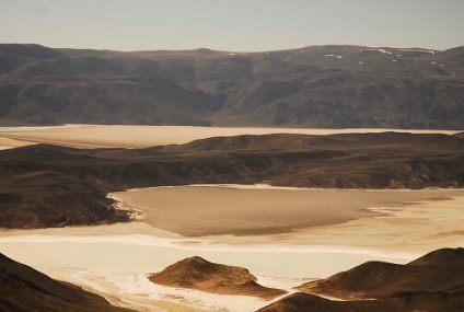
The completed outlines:
{"type": "Polygon", "coordinates": [[[77,286],[61,282],[0,254],[2,312],[130,312],[77,286]]]}

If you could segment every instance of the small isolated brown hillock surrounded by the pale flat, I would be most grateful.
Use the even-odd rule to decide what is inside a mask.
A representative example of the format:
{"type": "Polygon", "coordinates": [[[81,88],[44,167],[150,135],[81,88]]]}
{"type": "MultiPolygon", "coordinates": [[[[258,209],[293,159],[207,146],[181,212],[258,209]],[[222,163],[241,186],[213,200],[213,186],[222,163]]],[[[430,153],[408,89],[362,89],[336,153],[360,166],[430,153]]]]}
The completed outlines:
{"type": "Polygon", "coordinates": [[[286,293],[280,289],[260,286],[246,268],[216,264],[197,256],[179,261],[160,273],[150,275],[149,279],[160,285],[222,294],[270,299],[286,293]]]}

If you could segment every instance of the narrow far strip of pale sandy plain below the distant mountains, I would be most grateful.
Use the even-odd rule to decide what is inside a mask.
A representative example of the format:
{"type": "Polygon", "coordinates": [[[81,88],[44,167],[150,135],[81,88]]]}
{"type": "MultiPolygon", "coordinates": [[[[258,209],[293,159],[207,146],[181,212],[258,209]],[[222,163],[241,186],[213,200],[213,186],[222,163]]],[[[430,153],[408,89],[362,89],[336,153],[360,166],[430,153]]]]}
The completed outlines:
{"type": "Polygon", "coordinates": [[[0,127],[0,147],[13,148],[35,143],[53,143],[76,148],[147,148],[182,145],[197,139],[239,135],[305,134],[332,135],[349,132],[438,132],[455,130],[415,129],[310,129],[310,128],[236,128],[190,126],[65,125],[56,127],[0,127]]]}

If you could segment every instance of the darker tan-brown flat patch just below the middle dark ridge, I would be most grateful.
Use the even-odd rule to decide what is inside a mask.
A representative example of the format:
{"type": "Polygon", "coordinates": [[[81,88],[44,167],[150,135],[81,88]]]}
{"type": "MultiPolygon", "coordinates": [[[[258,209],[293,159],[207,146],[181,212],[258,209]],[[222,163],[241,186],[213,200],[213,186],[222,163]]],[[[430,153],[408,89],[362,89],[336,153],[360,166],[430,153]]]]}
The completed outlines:
{"type": "MultiPolygon", "coordinates": [[[[184,236],[288,233],[382,216],[373,207],[439,200],[455,190],[352,190],[234,185],[152,187],[111,197],[154,228],[184,236]],[[371,208],[371,209],[368,209],[371,208]]],[[[463,192],[464,194],[464,192],[463,192]]]]}

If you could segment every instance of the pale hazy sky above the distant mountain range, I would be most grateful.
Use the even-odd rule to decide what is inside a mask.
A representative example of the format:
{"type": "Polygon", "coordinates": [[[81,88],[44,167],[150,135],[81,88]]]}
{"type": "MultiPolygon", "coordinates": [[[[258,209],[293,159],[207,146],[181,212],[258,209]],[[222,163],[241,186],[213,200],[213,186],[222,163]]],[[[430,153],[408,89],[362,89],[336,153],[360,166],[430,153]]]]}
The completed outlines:
{"type": "Polygon", "coordinates": [[[0,0],[0,43],[269,50],[464,45],[464,0],[0,0]]]}

